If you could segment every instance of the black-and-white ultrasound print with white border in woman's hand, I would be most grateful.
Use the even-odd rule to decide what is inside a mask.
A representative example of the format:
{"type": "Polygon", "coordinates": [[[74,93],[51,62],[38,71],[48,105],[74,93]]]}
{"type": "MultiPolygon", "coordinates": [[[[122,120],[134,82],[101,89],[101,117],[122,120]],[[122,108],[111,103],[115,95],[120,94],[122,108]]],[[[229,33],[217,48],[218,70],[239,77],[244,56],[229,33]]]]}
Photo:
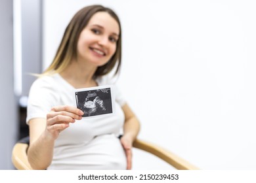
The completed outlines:
{"type": "Polygon", "coordinates": [[[83,117],[112,114],[114,103],[111,86],[98,86],[75,90],[77,108],[83,110],[83,117]]]}

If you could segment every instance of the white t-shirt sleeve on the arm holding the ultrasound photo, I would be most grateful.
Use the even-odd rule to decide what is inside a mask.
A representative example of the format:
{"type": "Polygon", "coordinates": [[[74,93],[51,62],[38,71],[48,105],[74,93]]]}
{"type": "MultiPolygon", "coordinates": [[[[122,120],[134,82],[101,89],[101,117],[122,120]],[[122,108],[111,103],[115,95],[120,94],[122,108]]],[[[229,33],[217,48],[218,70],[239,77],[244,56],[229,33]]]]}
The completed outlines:
{"type": "Polygon", "coordinates": [[[32,118],[46,118],[47,113],[58,101],[58,95],[54,91],[53,82],[47,78],[37,78],[33,82],[28,96],[26,123],[32,118]]]}

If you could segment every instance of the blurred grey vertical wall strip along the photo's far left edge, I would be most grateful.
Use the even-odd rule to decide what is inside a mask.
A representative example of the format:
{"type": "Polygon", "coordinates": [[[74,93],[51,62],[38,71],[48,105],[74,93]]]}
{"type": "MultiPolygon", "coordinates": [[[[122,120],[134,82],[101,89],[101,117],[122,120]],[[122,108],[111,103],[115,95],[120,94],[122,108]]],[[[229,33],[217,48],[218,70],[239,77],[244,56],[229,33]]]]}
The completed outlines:
{"type": "Polygon", "coordinates": [[[18,105],[14,96],[12,1],[0,1],[0,169],[13,169],[12,147],[18,137],[18,105]]]}

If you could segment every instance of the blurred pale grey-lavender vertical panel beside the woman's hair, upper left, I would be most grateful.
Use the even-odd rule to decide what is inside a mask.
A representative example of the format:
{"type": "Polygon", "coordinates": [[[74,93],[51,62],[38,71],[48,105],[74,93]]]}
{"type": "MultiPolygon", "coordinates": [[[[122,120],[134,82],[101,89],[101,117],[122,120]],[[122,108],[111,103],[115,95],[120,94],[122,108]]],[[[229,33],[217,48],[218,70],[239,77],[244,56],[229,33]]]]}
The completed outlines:
{"type": "Polygon", "coordinates": [[[22,92],[28,96],[35,76],[41,71],[41,0],[20,0],[22,21],[22,92]]]}

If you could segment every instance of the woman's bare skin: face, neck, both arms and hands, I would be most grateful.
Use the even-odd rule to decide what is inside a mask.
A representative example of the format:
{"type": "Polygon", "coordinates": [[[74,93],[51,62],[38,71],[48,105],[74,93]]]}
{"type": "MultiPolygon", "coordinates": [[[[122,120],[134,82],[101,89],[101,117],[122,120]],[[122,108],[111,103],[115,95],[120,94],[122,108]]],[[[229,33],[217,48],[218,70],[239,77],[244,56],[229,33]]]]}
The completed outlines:
{"type": "MultiPolygon", "coordinates": [[[[104,65],[116,52],[119,25],[107,12],[94,14],[83,29],[77,42],[77,59],[73,59],[60,75],[74,88],[97,86],[93,75],[97,67],[104,65]]],[[[127,169],[131,169],[132,145],[140,125],[129,105],[122,107],[125,114],[123,137],[120,141],[127,157],[127,169]]],[[[79,122],[83,111],[72,106],[56,106],[47,118],[30,120],[30,148],[28,161],[33,169],[47,169],[53,159],[54,141],[70,123],[79,122]]]]}

